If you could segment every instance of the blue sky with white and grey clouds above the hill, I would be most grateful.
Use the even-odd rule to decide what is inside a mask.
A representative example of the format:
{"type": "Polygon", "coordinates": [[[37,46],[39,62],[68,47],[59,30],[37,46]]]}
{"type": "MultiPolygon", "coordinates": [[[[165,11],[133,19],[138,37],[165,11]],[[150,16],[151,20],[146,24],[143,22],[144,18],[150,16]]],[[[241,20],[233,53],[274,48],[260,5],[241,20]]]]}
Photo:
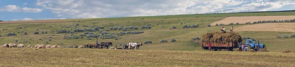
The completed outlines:
{"type": "Polygon", "coordinates": [[[0,0],[2,21],[278,10],[295,10],[295,0],[0,0]]]}

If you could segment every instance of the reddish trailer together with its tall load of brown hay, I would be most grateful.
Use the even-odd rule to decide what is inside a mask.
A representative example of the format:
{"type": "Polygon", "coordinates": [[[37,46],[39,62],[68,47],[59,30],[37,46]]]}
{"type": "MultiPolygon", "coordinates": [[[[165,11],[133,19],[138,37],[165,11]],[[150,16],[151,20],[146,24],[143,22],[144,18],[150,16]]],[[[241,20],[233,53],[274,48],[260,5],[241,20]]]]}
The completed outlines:
{"type": "Polygon", "coordinates": [[[200,45],[202,49],[208,49],[208,44],[211,43],[211,49],[213,50],[233,50],[241,42],[242,38],[236,32],[209,32],[202,36],[200,45]]]}

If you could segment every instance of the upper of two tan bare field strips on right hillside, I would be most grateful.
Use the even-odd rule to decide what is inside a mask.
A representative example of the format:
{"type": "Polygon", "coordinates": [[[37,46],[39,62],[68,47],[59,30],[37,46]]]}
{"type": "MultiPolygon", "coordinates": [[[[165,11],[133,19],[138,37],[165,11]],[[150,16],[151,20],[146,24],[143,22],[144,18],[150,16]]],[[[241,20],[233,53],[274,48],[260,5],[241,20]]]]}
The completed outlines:
{"type": "Polygon", "coordinates": [[[249,16],[249,17],[228,17],[221,21],[211,23],[211,26],[215,26],[216,23],[224,23],[229,24],[233,22],[236,24],[238,23],[246,23],[246,22],[257,22],[257,21],[269,21],[269,20],[293,20],[295,16],[249,16]]]}

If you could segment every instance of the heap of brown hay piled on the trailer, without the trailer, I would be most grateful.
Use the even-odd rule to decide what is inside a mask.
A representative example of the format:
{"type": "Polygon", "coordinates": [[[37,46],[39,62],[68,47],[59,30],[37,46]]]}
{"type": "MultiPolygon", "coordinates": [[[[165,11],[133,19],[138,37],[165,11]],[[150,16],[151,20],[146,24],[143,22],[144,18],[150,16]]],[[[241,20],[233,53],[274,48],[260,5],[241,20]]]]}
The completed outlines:
{"type": "Polygon", "coordinates": [[[212,42],[212,43],[225,43],[234,42],[235,44],[242,42],[242,37],[236,32],[209,32],[202,36],[200,40],[200,45],[202,46],[203,42],[212,42]]]}

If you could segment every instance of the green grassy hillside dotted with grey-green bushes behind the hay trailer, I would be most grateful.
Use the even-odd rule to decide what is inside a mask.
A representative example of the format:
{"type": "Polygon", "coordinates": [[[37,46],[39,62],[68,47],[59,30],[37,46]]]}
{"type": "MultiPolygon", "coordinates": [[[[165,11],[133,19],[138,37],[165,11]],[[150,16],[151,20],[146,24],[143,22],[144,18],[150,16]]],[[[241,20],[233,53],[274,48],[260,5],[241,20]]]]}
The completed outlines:
{"type": "MultiPolygon", "coordinates": [[[[58,34],[56,32],[52,32],[51,30],[71,30],[73,31],[75,28],[65,28],[61,27],[73,26],[75,23],[79,23],[79,26],[76,28],[91,28],[91,27],[83,27],[83,25],[94,27],[96,26],[104,26],[104,29],[109,29],[109,27],[114,27],[118,25],[123,26],[137,26],[138,30],[130,30],[130,31],[144,31],[142,34],[131,34],[131,35],[123,35],[117,36],[118,40],[114,39],[100,39],[99,42],[113,42],[114,45],[118,45],[119,43],[129,43],[129,42],[145,42],[147,40],[151,40],[152,44],[145,44],[141,47],[141,49],[145,50],[202,50],[199,45],[192,43],[191,38],[201,37],[203,34],[212,31],[219,31],[222,26],[211,26],[207,27],[207,24],[222,20],[229,16],[278,16],[278,15],[294,15],[295,12],[270,12],[270,13],[234,13],[234,14],[197,14],[197,15],[172,15],[172,16],[149,16],[149,17],[123,17],[123,18],[98,18],[98,19],[89,19],[89,20],[81,20],[75,22],[53,22],[53,23],[8,23],[8,24],[0,24],[0,44],[9,44],[14,43],[15,40],[19,42],[28,41],[25,45],[35,45],[37,44],[45,44],[46,41],[49,42],[50,45],[58,45],[63,44],[61,46],[67,45],[85,45],[86,43],[94,43],[95,38],[91,38],[91,40],[87,40],[87,37],[83,39],[63,39],[63,36],[70,35],[69,33],[58,34]],[[214,17],[216,16],[216,17],[214,17]],[[144,19],[143,19],[144,18],[144,19]],[[165,19],[166,18],[166,19],[165,19]],[[163,21],[162,21],[163,20],[163,21]],[[180,24],[182,22],[182,24],[180,24]],[[94,24],[93,24],[94,23],[94,24]],[[140,29],[142,25],[146,26],[147,24],[151,24],[151,29],[140,29]],[[192,24],[200,24],[198,28],[182,28],[183,25],[192,25],[192,24]],[[27,28],[14,29],[16,27],[24,27],[27,28]],[[52,26],[52,27],[49,27],[52,26]],[[163,26],[163,27],[162,27],[163,26]],[[176,26],[177,29],[171,29],[172,26],[176,26]],[[7,28],[7,30],[2,30],[7,28]],[[47,31],[47,34],[38,34],[34,35],[36,29],[39,29],[37,32],[41,33],[41,31],[47,31]],[[178,30],[179,29],[179,30],[178,30]],[[23,32],[28,32],[28,35],[23,35],[23,32]],[[6,36],[6,33],[15,32],[17,36],[6,36]],[[20,33],[17,33],[20,32],[20,33]],[[55,34],[57,36],[52,36],[55,34]],[[52,38],[50,38],[52,37],[52,38]],[[22,39],[21,39],[22,38],[22,39]],[[31,39],[31,40],[30,40],[31,39]],[[43,41],[40,41],[42,39],[43,41]],[[52,41],[49,41],[51,39],[52,41]],[[160,40],[168,40],[168,43],[159,43],[160,40]],[[176,39],[177,42],[170,42],[171,39],[176,39]],[[30,43],[30,44],[29,44],[30,43]]],[[[235,27],[239,27],[245,24],[234,25],[235,27]]],[[[229,28],[230,25],[225,25],[226,28],[229,28]]],[[[109,33],[119,33],[121,30],[110,30],[107,31],[109,33]]],[[[84,32],[83,32],[84,33],[84,32]]],[[[83,34],[78,32],[77,35],[83,34]]],[[[101,34],[99,32],[93,32],[97,34],[101,34]]],[[[291,35],[295,34],[295,32],[238,32],[242,37],[249,36],[251,39],[262,40],[263,44],[266,44],[268,51],[283,51],[283,50],[292,50],[295,51],[294,40],[292,38],[289,39],[276,39],[277,35],[291,35]]],[[[47,44],[45,44],[47,45],[47,44]]]]}

